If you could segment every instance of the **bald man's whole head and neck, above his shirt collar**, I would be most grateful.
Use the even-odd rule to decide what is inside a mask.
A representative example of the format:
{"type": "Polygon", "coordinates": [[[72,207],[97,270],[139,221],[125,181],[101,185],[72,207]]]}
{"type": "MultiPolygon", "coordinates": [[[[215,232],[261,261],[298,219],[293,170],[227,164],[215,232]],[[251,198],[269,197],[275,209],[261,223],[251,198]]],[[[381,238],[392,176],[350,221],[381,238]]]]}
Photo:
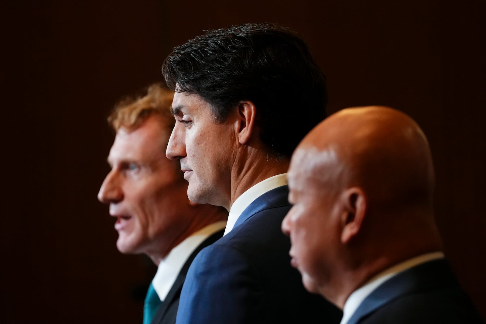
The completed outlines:
{"type": "Polygon", "coordinates": [[[434,168],[417,123],[386,107],[343,109],[298,145],[282,223],[306,288],[344,304],[374,274],[440,249],[434,168]]]}

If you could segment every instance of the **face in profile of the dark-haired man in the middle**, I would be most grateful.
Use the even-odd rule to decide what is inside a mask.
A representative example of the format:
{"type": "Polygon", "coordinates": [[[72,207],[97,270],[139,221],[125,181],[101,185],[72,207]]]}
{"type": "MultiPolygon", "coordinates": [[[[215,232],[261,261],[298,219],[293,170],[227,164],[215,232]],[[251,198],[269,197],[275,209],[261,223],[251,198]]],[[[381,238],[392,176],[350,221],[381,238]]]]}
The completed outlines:
{"type": "Polygon", "coordinates": [[[189,199],[225,206],[231,189],[230,161],[238,142],[232,117],[218,123],[210,105],[187,92],[175,92],[172,110],[176,122],[166,154],[171,160],[180,160],[184,179],[189,182],[189,199]]]}

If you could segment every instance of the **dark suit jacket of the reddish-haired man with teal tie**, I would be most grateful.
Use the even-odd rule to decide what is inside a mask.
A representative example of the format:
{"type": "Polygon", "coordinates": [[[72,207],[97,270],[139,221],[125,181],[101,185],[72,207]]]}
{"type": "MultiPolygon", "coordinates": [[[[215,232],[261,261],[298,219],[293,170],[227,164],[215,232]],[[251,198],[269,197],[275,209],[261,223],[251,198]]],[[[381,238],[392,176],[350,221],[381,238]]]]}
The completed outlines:
{"type": "Polygon", "coordinates": [[[187,271],[192,261],[203,248],[210,244],[213,244],[217,239],[221,238],[225,233],[224,230],[218,231],[211,234],[207,239],[205,239],[199,246],[191,253],[189,258],[186,260],[184,266],[180,270],[177,278],[175,279],[174,285],[172,285],[171,290],[167,293],[164,301],[160,306],[158,306],[157,311],[152,319],[151,324],[174,324],[175,316],[177,314],[177,307],[179,306],[179,298],[181,295],[182,285],[186,279],[187,271]]]}

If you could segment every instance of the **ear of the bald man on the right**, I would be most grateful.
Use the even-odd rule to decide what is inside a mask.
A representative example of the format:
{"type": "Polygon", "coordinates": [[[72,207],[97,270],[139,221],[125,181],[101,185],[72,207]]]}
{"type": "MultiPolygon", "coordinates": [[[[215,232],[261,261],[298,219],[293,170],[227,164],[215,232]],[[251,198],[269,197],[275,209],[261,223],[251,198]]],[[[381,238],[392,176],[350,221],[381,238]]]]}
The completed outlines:
{"type": "Polygon", "coordinates": [[[366,215],[367,199],[363,189],[359,187],[347,189],[340,199],[343,207],[341,243],[347,244],[361,230],[366,215]]]}

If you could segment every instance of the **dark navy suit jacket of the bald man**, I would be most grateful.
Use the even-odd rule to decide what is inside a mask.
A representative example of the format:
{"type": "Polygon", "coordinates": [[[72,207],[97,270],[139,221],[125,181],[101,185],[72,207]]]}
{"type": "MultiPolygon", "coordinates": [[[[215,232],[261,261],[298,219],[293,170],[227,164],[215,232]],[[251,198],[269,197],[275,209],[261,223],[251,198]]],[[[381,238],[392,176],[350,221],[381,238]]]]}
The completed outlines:
{"type": "Polygon", "coordinates": [[[348,324],[483,323],[449,263],[434,260],[405,270],[376,288],[348,324]]]}

